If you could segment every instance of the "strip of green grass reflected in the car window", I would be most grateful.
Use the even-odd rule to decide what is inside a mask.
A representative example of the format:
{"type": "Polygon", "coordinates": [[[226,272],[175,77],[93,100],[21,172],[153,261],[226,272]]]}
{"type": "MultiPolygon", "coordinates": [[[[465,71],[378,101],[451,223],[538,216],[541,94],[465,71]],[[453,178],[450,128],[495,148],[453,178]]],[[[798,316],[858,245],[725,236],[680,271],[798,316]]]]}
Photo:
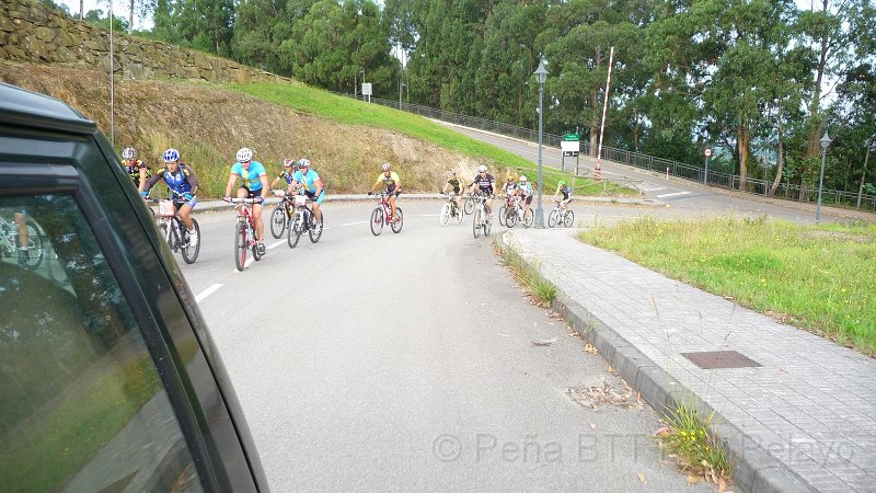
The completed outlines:
{"type": "Polygon", "coordinates": [[[30,424],[26,433],[0,444],[0,484],[9,491],[58,490],[118,434],[160,385],[149,354],[114,366],[47,419],[30,424]]]}

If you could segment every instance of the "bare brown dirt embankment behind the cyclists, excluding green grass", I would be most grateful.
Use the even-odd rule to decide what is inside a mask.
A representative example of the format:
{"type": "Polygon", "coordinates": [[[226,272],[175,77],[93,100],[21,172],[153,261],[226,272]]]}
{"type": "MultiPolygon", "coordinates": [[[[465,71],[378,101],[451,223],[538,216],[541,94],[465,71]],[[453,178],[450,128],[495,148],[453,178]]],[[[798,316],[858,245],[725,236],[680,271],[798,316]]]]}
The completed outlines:
{"type": "MultiPolygon", "coordinates": [[[[57,98],[97,123],[110,137],[106,73],[44,65],[0,62],[0,81],[57,98]]],[[[364,193],[389,161],[404,187],[434,192],[447,170],[473,175],[477,162],[393,131],[358,127],[297,113],[206,84],[119,80],[115,92],[115,147],[135,147],[153,169],[174,147],[209,196],[219,196],[234,153],[255,150],[270,179],[284,157],[307,157],[331,193],[364,193]]]]}

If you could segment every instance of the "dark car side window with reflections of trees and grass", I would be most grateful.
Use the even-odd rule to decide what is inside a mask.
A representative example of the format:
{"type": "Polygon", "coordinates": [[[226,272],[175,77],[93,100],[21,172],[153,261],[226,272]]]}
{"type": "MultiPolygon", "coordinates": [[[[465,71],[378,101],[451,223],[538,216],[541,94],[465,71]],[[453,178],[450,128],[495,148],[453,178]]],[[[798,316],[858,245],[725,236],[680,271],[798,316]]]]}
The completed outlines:
{"type": "Polygon", "coordinates": [[[0,254],[2,490],[201,491],[74,197],[0,197],[0,254]]]}

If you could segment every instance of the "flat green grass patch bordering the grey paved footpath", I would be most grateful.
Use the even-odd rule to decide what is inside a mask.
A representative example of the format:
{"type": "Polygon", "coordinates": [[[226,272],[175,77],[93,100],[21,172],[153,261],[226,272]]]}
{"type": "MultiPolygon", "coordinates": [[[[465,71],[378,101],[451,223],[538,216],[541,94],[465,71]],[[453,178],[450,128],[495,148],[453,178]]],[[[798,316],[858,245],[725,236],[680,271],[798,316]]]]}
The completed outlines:
{"type": "Polygon", "coordinates": [[[579,239],[876,355],[876,225],[646,217],[579,239]]]}

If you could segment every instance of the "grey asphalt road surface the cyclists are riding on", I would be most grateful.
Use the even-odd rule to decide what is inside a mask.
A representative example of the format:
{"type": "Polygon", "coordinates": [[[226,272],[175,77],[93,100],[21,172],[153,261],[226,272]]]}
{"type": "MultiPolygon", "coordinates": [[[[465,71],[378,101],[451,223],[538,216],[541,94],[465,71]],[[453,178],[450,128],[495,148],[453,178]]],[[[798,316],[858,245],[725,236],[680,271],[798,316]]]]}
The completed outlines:
{"type": "Polygon", "coordinates": [[[200,256],[181,268],[275,491],[690,490],[635,397],[596,411],[569,399],[629,392],[526,298],[469,217],[442,228],[439,202],[402,204],[402,232],[379,237],[373,204],[326,204],[318,244],[270,239],[242,273],[231,213],[197,215],[200,256]]]}

